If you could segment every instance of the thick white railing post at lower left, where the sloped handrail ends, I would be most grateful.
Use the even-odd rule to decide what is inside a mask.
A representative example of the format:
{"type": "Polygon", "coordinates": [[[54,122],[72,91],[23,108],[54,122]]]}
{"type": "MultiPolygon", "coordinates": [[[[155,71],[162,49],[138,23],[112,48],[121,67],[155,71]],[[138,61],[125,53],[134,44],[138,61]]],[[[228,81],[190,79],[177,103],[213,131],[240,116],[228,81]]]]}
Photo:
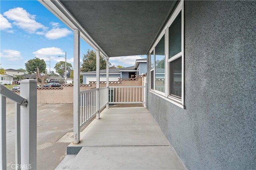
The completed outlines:
{"type": "Polygon", "coordinates": [[[36,170],[36,80],[22,80],[20,96],[28,102],[26,107],[20,107],[21,169],[36,170]]]}

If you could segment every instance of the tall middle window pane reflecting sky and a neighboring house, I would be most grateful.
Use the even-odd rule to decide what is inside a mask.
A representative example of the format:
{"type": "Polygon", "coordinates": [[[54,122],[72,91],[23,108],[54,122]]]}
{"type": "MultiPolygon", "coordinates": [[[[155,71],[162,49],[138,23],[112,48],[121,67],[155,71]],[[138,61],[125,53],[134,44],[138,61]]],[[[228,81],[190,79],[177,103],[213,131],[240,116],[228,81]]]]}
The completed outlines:
{"type": "Polygon", "coordinates": [[[159,91],[159,92],[163,92],[165,91],[164,89],[164,78],[165,78],[165,51],[164,51],[164,35],[162,36],[162,38],[160,39],[160,41],[158,42],[158,44],[155,47],[155,85],[156,88],[155,90],[159,91]]]}

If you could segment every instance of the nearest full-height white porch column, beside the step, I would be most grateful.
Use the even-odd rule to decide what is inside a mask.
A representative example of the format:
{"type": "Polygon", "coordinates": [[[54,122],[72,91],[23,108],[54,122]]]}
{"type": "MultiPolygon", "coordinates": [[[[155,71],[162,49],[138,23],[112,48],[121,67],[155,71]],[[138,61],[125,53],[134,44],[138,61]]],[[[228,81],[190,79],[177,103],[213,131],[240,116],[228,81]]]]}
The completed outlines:
{"type": "Polygon", "coordinates": [[[74,144],[80,142],[80,31],[74,29],[74,144]]]}

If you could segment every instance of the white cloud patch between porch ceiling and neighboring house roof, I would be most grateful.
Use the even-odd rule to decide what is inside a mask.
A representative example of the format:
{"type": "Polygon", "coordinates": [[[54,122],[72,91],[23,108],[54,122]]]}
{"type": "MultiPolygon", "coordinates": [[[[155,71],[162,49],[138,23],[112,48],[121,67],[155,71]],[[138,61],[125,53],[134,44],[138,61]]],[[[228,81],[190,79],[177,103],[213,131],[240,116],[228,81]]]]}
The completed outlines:
{"type": "Polygon", "coordinates": [[[134,66],[135,61],[137,59],[143,59],[143,57],[141,57],[140,55],[133,55],[133,56],[122,56],[122,57],[110,57],[109,58],[109,62],[115,66],[117,65],[129,65],[129,66],[134,66]],[[112,63],[113,62],[113,63],[112,63]],[[118,63],[118,64],[117,64],[118,63]],[[116,65],[117,64],[117,65],[116,65]]]}

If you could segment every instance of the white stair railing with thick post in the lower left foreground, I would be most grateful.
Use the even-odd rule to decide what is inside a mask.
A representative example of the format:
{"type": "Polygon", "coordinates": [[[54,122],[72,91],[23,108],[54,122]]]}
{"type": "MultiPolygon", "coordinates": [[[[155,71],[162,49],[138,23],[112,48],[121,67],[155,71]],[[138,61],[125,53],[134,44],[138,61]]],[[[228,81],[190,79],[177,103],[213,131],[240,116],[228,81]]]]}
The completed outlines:
{"type": "Polygon", "coordinates": [[[0,85],[0,169],[6,169],[6,98],[15,102],[15,168],[36,169],[36,96],[36,80],[22,80],[20,96],[0,85]]]}

